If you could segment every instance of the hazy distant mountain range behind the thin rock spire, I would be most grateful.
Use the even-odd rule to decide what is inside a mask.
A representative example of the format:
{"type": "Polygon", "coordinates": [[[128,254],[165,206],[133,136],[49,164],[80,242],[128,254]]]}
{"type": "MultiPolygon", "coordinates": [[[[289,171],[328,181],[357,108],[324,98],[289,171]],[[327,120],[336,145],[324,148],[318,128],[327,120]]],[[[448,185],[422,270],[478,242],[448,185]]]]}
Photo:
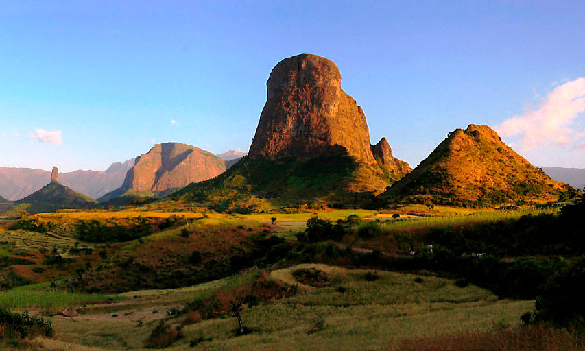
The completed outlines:
{"type": "MultiPolygon", "coordinates": [[[[60,183],[74,191],[97,198],[121,186],[134,160],[114,162],[106,171],[59,173],[60,183]]],[[[41,169],[0,167],[0,196],[9,200],[26,197],[51,180],[51,172],[41,169]]]]}

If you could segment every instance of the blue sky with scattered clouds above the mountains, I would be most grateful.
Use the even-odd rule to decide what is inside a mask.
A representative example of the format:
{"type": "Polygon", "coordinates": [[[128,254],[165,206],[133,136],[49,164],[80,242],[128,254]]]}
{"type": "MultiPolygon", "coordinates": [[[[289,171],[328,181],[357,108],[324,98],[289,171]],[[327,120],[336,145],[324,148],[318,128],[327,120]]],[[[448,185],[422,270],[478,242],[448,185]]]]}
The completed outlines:
{"type": "Polygon", "coordinates": [[[585,168],[584,18],[585,1],[3,2],[0,167],[247,151],[272,67],[315,53],[412,167],[475,123],[585,168]]]}

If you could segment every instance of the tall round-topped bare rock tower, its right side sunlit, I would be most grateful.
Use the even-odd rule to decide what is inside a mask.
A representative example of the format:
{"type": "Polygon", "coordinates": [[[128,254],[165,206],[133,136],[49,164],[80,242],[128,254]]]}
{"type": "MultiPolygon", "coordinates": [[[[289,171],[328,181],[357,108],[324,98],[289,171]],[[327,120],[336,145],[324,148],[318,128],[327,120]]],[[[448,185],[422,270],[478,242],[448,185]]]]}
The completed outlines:
{"type": "MultiPolygon", "coordinates": [[[[304,53],[276,64],[250,158],[307,159],[346,152],[374,164],[366,115],[341,84],[337,66],[317,55],[304,53]]],[[[384,165],[395,167],[396,162],[384,165]]]]}

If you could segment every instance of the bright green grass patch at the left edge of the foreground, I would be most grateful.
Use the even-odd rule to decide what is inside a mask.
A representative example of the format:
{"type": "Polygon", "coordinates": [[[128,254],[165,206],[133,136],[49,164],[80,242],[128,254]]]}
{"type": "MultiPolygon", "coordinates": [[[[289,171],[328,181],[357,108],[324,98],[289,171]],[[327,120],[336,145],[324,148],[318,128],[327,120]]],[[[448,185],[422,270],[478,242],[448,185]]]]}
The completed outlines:
{"type": "Polygon", "coordinates": [[[106,302],[108,298],[112,297],[109,295],[70,293],[51,289],[50,283],[40,283],[0,292],[0,307],[16,309],[38,308],[52,311],[92,302],[106,302]]]}

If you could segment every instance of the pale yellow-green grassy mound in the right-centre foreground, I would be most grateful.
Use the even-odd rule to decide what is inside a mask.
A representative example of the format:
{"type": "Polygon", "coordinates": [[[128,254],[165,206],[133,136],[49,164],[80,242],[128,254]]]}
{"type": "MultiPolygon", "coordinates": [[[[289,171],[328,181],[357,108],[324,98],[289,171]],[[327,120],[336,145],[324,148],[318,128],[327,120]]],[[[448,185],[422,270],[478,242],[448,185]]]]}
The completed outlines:
{"type": "Polygon", "coordinates": [[[367,282],[363,269],[299,265],[274,271],[272,277],[291,282],[292,271],[307,267],[326,271],[333,285],[303,287],[299,295],[246,311],[242,318],[254,330],[250,335],[233,337],[235,319],[212,319],[184,328],[186,339],[211,338],[202,343],[207,350],[371,350],[401,339],[482,330],[497,323],[517,325],[534,305],[498,300],[478,287],[456,287],[452,280],[424,276],[418,283],[416,275],[385,271],[367,282]],[[346,292],[337,292],[340,286],[346,292]],[[308,333],[318,324],[322,330],[308,333]]]}

